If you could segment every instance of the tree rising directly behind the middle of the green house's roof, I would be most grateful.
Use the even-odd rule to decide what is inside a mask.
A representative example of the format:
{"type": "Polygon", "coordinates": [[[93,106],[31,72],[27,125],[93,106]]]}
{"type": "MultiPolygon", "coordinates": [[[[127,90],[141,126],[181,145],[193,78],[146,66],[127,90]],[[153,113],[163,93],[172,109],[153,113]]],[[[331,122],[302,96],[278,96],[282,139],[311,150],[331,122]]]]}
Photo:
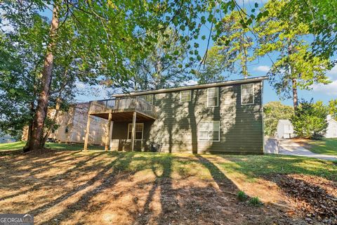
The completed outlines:
{"type": "Polygon", "coordinates": [[[147,57],[130,63],[133,71],[130,87],[133,90],[168,88],[192,79],[190,70],[196,58],[191,46],[171,28],[164,34],[159,32],[157,37],[158,41],[147,57]]]}

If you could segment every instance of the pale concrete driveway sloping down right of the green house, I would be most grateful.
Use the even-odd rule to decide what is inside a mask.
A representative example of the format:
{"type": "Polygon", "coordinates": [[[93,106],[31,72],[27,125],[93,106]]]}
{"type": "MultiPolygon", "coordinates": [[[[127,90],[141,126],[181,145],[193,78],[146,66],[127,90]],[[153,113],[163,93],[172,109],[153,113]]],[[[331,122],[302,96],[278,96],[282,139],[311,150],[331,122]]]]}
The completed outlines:
{"type": "Polygon", "coordinates": [[[298,143],[291,141],[291,139],[279,140],[279,154],[281,155],[298,155],[317,158],[321,160],[337,160],[334,155],[322,155],[310,152],[310,150],[303,148],[298,143]]]}

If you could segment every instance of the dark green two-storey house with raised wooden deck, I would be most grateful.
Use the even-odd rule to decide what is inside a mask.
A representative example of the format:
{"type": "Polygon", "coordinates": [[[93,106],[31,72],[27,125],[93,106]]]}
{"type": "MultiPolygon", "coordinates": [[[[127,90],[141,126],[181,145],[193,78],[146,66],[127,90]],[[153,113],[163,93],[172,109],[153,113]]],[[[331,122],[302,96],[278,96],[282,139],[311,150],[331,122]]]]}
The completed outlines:
{"type": "Polygon", "coordinates": [[[89,114],[107,120],[111,150],[262,154],[265,79],[117,94],[89,114]]]}

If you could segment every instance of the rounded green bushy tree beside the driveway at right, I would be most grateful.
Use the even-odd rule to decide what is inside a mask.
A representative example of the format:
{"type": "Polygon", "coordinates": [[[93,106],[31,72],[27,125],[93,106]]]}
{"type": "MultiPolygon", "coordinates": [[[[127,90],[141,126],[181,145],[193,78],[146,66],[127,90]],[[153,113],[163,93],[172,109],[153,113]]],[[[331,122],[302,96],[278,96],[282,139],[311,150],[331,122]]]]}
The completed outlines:
{"type": "Polygon", "coordinates": [[[291,117],[295,134],[305,139],[321,139],[326,133],[329,108],[322,101],[302,101],[291,117]]]}

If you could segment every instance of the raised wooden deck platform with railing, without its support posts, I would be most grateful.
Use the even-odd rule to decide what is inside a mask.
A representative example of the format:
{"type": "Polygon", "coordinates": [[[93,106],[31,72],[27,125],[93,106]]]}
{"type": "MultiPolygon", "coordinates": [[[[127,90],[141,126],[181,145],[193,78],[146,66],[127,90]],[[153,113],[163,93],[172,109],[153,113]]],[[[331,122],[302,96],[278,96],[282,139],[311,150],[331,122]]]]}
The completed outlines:
{"type": "Polygon", "coordinates": [[[138,121],[156,120],[157,113],[154,105],[147,103],[143,98],[125,97],[100,101],[91,101],[89,115],[108,119],[112,113],[114,121],[131,121],[133,112],[137,113],[138,121]]]}

